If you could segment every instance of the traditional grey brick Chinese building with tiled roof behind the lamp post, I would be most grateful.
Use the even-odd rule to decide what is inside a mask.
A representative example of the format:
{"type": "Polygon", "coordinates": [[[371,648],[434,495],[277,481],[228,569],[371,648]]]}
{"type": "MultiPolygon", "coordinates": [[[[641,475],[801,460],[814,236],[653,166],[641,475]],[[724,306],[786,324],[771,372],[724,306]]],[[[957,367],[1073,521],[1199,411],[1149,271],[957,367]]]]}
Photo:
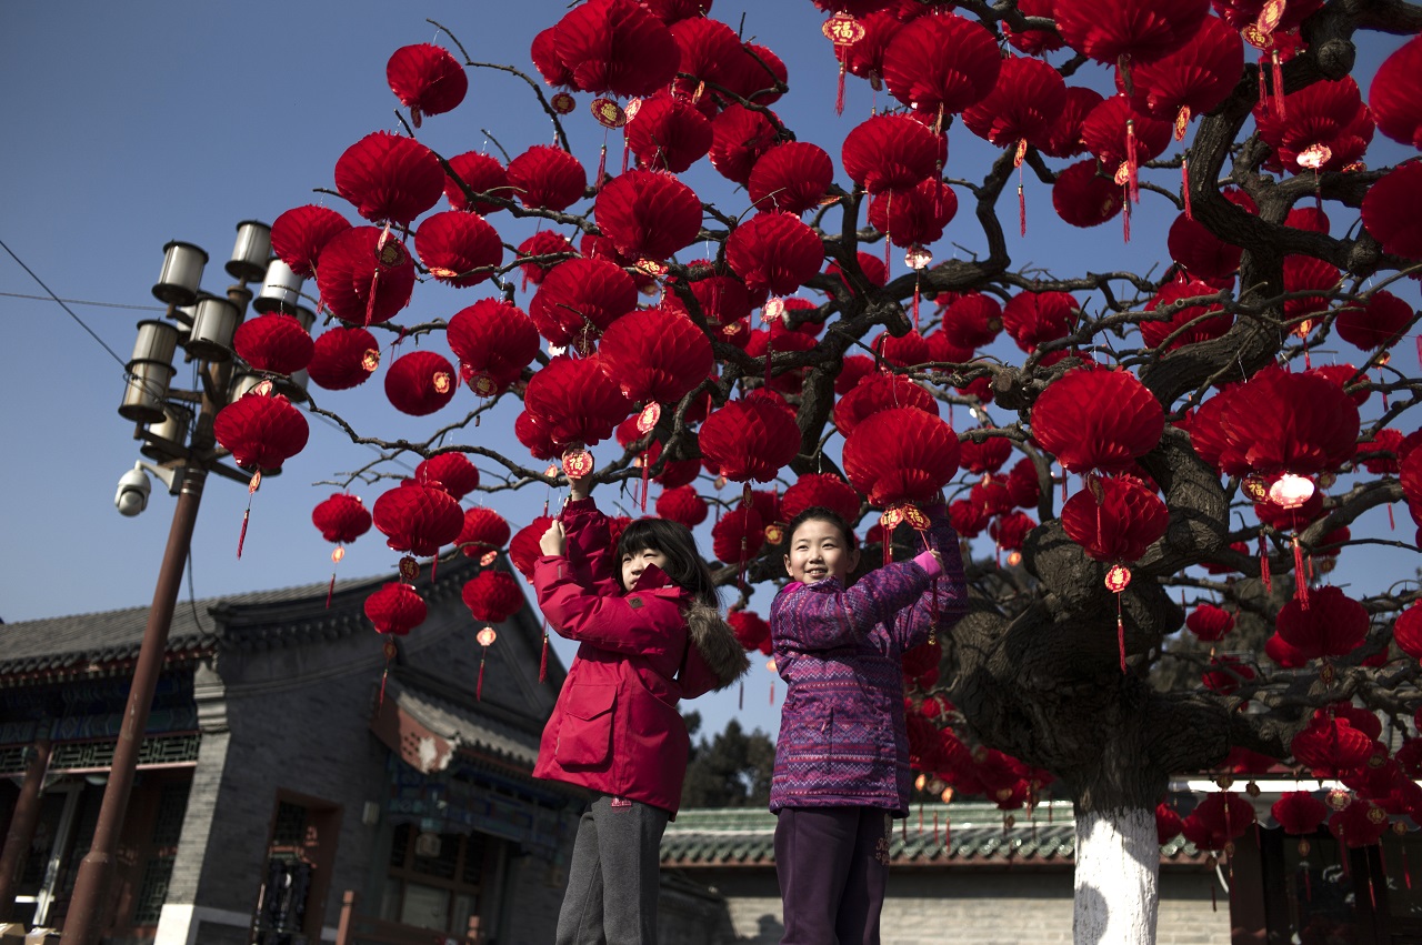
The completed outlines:
{"type": "MultiPolygon", "coordinates": [[[[179,603],[105,941],[552,941],[583,799],[532,770],[565,669],[539,681],[530,607],[476,642],[472,568],[417,581],[428,617],[388,664],[363,612],[381,580],[179,603]]],[[[0,625],[13,921],[64,924],[146,617],[0,625]]]]}

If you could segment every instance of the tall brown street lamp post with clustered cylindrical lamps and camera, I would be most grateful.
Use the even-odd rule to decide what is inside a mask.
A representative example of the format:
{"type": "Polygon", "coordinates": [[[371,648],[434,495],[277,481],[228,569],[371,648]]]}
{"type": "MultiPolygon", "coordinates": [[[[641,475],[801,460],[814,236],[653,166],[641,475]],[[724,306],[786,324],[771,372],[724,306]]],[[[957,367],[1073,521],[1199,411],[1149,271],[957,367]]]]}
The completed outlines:
{"type": "Polygon", "coordinates": [[[92,945],[108,918],[118,837],[134,787],[154,691],[164,666],[168,631],[208,473],[216,472],[236,482],[247,482],[247,473],[219,462],[226,453],[218,448],[212,428],[218,411],[246,389],[240,379],[233,384],[232,335],[252,303],[247,283],[266,279],[262,294],[253,304],[257,311],[287,311],[301,318],[307,328],[316,317],[311,310],[297,306],[301,280],[293,277],[280,260],[269,266],[270,252],[267,225],[255,220],[239,223],[236,247],[226,264],[228,274],[237,281],[228,288],[226,296],[212,296],[198,290],[208,254],[191,243],[168,243],[154,296],[168,304],[169,320],[138,324],[138,341],[128,365],[128,387],[118,412],[125,419],[135,421],[135,439],[144,441],[141,452],[158,460],[158,466],[139,462],[125,473],[119,480],[115,504],[122,514],[142,512],[148,500],[144,468],[159,473],[178,502],[154,587],[148,625],[134,665],[134,681],[94,827],[94,841],[80,864],[65,915],[63,945],[92,945]],[[196,391],[171,387],[176,372],[172,357],[179,342],[186,350],[186,360],[198,362],[196,377],[201,385],[196,391]]]}

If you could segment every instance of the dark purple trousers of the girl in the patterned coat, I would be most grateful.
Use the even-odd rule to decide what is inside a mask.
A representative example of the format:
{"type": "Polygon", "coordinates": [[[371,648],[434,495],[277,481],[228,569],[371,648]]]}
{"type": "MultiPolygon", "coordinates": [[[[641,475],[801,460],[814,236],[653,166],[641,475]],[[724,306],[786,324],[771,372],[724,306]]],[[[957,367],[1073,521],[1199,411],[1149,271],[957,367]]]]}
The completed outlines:
{"type": "Polygon", "coordinates": [[[775,873],[785,908],[781,945],[879,945],[889,881],[889,811],[784,807],[775,873]]]}

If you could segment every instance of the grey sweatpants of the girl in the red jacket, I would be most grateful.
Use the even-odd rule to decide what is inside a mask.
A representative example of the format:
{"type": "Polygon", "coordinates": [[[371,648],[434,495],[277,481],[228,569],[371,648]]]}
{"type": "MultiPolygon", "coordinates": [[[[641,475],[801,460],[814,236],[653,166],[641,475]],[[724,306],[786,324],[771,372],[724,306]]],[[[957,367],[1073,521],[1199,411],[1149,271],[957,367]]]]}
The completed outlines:
{"type": "Polygon", "coordinates": [[[671,814],[600,794],[577,821],[557,945],[656,945],[661,834],[671,814]]]}

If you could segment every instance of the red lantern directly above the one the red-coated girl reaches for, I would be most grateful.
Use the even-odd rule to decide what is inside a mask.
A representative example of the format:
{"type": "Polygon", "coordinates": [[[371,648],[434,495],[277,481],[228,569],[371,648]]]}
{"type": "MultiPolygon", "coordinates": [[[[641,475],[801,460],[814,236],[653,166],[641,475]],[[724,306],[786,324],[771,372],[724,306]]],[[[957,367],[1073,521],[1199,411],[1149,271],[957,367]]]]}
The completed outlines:
{"type": "Polygon", "coordinates": [[[555,345],[592,351],[597,337],[637,307],[637,283],[606,259],[570,259],[543,279],[529,317],[555,345]]]}

